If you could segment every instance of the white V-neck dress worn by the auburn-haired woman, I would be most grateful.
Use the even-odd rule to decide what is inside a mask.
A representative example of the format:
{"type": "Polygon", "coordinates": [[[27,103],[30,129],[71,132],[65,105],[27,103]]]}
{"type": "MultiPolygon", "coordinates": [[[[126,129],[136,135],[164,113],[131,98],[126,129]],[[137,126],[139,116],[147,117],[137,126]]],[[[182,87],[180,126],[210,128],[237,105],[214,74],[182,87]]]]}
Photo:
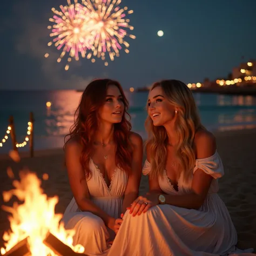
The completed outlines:
{"type": "MultiPolygon", "coordinates": [[[[120,218],[123,196],[128,181],[127,174],[118,167],[114,170],[110,187],[107,187],[98,166],[90,160],[91,178],[87,186],[91,200],[113,218],[120,218]]],[[[75,198],[66,208],[63,219],[66,229],[75,229],[73,245],[83,245],[86,255],[106,255],[114,232],[103,220],[91,212],[82,212],[75,198]]]]}

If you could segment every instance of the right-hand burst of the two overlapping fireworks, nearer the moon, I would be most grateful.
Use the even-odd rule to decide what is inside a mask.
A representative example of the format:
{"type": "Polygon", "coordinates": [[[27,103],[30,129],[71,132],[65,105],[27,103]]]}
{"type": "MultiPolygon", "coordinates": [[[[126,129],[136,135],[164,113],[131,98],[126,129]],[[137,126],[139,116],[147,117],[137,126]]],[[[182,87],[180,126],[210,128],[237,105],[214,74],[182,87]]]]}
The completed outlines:
{"type": "MultiPolygon", "coordinates": [[[[127,11],[127,7],[120,8],[121,2],[121,0],[82,0],[86,12],[90,13],[91,17],[87,29],[90,30],[89,42],[92,52],[87,57],[93,55],[103,60],[107,57],[114,60],[115,56],[119,57],[122,48],[129,53],[129,43],[124,38],[136,37],[127,33],[128,29],[133,30],[133,26],[129,25],[130,19],[126,16],[133,11],[127,11]]],[[[105,65],[108,63],[105,62],[105,65]]]]}

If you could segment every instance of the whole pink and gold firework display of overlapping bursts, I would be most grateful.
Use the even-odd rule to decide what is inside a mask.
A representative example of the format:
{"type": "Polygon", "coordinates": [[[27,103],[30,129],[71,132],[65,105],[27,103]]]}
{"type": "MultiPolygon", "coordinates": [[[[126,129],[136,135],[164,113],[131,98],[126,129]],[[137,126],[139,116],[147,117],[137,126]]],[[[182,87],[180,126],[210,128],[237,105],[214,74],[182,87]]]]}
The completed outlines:
{"type": "MultiPolygon", "coordinates": [[[[80,4],[74,0],[71,4],[68,0],[68,5],[60,5],[61,11],[52,8],[54,15],[50,21],[55,24],[48,29],[51,30],[50,36],[55,38],[48,46],[54,43],[58,50],[62,50],[57,62],[69,53],[68,62],[72,58],[78,60],[81,55],[91,59],[92,63],[95,62],[94,57],[101,58],[107,66],[107,59],[119,57],[122,48],[129,53],[129,43],[124,38],[136,37],[127,33],[133,27],[126,16],[133,11],[127,11],[127,7],[120,8],[120,3],[121,0],[82,0],[80,4]]],[[[46,53],[45,57],[48,56],[46,53]]],[[[66,64],[65,70],[68,69],[66,64]]]]}

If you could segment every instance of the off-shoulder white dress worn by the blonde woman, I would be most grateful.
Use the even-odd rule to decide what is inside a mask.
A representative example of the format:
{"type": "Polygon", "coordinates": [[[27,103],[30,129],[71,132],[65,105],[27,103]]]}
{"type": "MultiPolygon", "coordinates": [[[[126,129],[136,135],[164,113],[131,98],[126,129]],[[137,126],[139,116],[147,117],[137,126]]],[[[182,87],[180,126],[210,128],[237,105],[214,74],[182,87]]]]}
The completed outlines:
{"type": "MultiPolygon", "coordinates": [[[[237,232],[223,200],[217,194],[218,178],[224,175],[218,153],[197,159],[193,173],[198,169],[214,178],[199,210],[165,204],[154,206],[135,217],[127,211],[108,255],[215,256],[252,252],[240,251],[235,247],[237,232]]],[[[146,160],[143,174],[149,174],[150,170],[150,163],[146,160]]],[[[177,192],[164,171],[163,178],[159,177],[159,185],[166,194],[190,193],[192,178],[186,183],[181,176],[177,192]]]]}

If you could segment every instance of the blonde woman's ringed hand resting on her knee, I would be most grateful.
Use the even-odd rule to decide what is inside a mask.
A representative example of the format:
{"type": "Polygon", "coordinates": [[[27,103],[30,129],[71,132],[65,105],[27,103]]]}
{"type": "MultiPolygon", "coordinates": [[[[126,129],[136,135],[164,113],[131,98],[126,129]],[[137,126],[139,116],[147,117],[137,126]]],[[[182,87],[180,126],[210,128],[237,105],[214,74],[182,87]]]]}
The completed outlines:
{"type": "Polygon", "coordinates": [[[140,215],[158,204],[158,194],[145,194],[134,200],[131,205],[130,214],[132,214],[132,216],[140,215]]]}

